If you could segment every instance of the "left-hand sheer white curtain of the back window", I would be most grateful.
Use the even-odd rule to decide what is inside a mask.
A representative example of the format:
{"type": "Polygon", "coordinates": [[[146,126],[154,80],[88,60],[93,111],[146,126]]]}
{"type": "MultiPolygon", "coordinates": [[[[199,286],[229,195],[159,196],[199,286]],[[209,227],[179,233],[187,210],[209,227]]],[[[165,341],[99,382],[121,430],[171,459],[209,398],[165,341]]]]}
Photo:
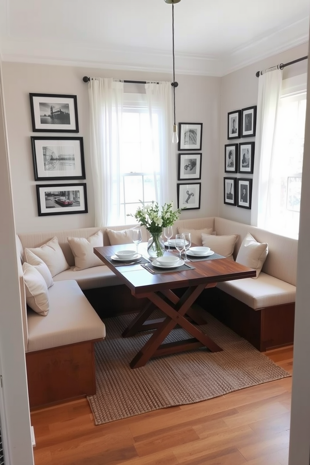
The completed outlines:
{"type": "Polygon", "coordinates": [[[108,226],[119,217],[119,149],[124,83],[92,78],[90,147],[95,198],[95,226],[108,226]]]}

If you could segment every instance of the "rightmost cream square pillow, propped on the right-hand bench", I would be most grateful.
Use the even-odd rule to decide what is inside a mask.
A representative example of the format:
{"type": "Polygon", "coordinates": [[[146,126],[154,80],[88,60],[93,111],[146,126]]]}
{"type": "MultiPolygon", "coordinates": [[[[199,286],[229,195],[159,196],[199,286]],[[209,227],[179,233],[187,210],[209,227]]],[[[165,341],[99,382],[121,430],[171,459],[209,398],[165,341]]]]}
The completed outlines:
{"type": "Polygon", "coordinates": [[[267,255],[267,242],[257,242],[250,233],[247,233],[238,250],[236,262],[256,270],[256,276],[253,279],[257,279],[267,255]]]}

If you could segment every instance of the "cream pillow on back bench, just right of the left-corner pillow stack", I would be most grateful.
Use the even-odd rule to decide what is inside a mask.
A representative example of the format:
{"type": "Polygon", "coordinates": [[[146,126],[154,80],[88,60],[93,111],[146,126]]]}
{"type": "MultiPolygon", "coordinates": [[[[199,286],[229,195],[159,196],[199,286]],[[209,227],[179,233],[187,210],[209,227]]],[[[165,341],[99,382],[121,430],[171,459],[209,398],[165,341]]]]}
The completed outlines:
{"type": "Polygon", "coordinates": [[[87,239],[84,237],[67,237],[67,241],[74,255],[75,268],[73,271],[103,265],[102,260],[93,252],[94,247],[103,246],[103,233],[101,229],[87,239]]]}

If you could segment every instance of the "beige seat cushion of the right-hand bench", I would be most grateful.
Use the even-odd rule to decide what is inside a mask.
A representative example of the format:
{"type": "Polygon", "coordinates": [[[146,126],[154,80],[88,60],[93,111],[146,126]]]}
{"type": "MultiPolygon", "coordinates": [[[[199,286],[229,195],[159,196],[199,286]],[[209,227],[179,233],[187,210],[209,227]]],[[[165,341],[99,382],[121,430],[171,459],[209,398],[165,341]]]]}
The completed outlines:
{"type": "Polygon", "coordinates": [[[295,302],[296,286],[263,272],[257,279],[225,281],[217,287],[254,310],[295,302]]]}

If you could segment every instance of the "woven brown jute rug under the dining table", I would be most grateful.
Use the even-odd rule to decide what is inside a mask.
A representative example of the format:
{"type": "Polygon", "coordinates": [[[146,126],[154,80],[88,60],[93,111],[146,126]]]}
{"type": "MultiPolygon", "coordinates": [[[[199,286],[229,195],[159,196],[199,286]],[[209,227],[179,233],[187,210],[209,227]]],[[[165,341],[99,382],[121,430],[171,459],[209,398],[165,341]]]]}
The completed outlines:
{"type": "MultiPolygon", "coordinates": [[[[95,424],[193,404],[290,376],[245,339],[206,315],[208,323],[200,328],[224,349],[222,352],[201,348],[151,359],[133,370],[129,362],[152,332],[122,338],[121,333],[134,315],[104,320],[106,339],[95,345],[97,393],[87,398],[95,424]]],[[[165,342],[188,337],[177,327],[165,342]]]]}

